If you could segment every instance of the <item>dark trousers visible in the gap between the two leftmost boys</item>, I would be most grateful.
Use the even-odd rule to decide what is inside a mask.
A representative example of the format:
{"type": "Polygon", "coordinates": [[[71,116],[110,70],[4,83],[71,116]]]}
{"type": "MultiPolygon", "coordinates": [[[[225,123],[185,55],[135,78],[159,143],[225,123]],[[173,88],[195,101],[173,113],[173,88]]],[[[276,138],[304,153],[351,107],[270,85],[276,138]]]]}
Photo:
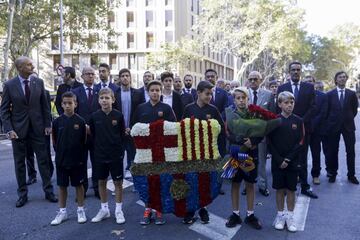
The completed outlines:
{"type": "Polygon", "coordinates": [[[87,160],[88,157],[90,155],[90,162],[91,162],[91,167],[92,167],[92,174],[91,174],[91,180],[92,180],[92,187],[94,189],[94,191],[98,191],[99,189],[99,183],[98,183],[98,179],[96,178],[96,174],[94,173],[95,169],[94,169],[94,144],[93,144],[93,140],[91,138],[91,136],[87,136],[87,142],[85,144],[85,149],[84,149],[84,167],[83,167],[83,174],[85,176],[84,179],[84,189],[85,189],[85,193],[89,188],[89,176],[88,176],[88,172],[87,172],[87,160]]]}

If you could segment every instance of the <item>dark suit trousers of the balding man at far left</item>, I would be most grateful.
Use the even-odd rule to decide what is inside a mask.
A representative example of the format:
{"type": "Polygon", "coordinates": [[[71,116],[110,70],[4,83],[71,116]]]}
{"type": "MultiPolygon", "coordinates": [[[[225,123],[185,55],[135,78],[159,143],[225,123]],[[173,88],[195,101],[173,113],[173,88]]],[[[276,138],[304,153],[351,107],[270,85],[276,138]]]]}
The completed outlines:
{"type": "Polygon", "coordinates": [[[29,132],[25,138],[12,140],[13,155],[15,162],[15,174],[18,184],[18,196],[25,197],[28,193],[26,186],[26,148],[30,144],[37,156],[37,163],[40,176],[43,182],[43,190],[46,194],[53,193],[53,186],[51,184],[50,166],[48,161],[44,136],[36,135],[32,127],[29,127],[29,132]]]}

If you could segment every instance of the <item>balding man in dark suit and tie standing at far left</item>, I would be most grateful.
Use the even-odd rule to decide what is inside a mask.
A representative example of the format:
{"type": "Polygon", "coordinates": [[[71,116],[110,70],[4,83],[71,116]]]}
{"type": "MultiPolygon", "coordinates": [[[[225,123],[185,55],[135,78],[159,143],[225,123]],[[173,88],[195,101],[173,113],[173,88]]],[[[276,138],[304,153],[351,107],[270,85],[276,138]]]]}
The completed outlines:
{"type": "Polygon", "coordinates": [[[26,145],[31,144],[38,161],[43,181],[45,198],[57,202],[51,184],[49,161],[45,135],[51,134],[50,107],[47,104],[44,82],[30,75],[34,66],[28,57],[19,57],[15,61],[19,75],[4,84],[1,117],[4,130],[12,140],[15,162],[18,196],[16,207],[22,207],[28,201],[26,186],[26,145]]]}

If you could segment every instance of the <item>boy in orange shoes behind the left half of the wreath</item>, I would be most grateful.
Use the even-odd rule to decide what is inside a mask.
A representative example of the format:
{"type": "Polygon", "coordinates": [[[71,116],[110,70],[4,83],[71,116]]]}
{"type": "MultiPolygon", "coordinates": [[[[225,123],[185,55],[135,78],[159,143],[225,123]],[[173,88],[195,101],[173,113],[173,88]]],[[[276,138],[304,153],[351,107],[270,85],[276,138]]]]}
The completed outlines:
{"type": "MultiPolygon", "coordinates": [[[[134,125],[138,122],[152,123],[159,119],[175,122],[176,117],[172,108],[168,104],[160,102],[160,97],[162,94],[162,83],[157,80],[152,80],[147,84],[146,88],[149,93],[150,99],[148,102],[140,104],[138,106],[134,113],[134,118],[132,119],[131,125],[134,125]]],[[[140,224],[150,224],[151,215],[151,208],[149,208],[149,206],[145,206],[144,216],[140,221],[140,224]]],[[[155,224],[165,224],[165,220],[163,219],[162,214],[159,211],[156,211],[155,214],[155,224]]]]}

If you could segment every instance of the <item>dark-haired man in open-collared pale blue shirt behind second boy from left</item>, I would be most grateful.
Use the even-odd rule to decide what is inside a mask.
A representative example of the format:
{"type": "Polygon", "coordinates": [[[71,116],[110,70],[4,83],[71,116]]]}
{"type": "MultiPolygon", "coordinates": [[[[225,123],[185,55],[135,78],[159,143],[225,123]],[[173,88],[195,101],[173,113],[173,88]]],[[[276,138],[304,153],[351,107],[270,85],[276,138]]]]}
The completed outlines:
{"type": "Polygon", "coordinates": [[[130,178],[131,174],[129,170],[131,164],[134,162],[136,152],[133,138],[130,135],[130,122],[137,106],[141,103],[142,96],[138,90],[131,87],[131,73],[129,69],[123,68],[119,71],[119,83],[120,109],[125,122],[124,148],[127,156],[125,178],[130,178]]]}

